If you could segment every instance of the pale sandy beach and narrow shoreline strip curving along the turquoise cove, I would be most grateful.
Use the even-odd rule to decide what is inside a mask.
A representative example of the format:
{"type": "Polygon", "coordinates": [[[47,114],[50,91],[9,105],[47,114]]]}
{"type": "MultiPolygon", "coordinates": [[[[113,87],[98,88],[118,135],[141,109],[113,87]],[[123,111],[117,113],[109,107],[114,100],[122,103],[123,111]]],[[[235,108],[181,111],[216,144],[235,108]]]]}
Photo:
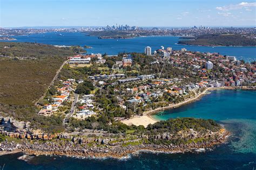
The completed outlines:
{"type": "Polygon", "coordinates": [[[130,119],[125,119],[124,121],[122,121],[122,123],[126,124],[126,125],[144,125],[145,127],[149,124],[153,124],[158,122],[159,120],[154,119],[152,117],[152,115],[161,112],[161,111],[165,111],[165,110],[169,110],[172,108],[178,108],[182,105],[188,104],[188,103],[192,103],[192,102],[196,102],[197,100],[200,100],[201,97],[203,97],[204,95],[207,95],[208,91],[212,91],[212,90],[221,90],[221,89],[225,89],[225,90],[256,90],[256,87],[250,87],[250,86],[234,86],[234,87],[208,87],[207,89],[205,89],[203,92],[201,92],[199,95],[197,95],[196,97],[190,98],[186,101],[183,101],[181,103],[177,103],[177,104],[170,104],[167,107],[161,107],[161,108],[157,108],[154,110],[149,110],[149,111],[145,111],[143,113],[143,116],[134,116],[130,119]]]}

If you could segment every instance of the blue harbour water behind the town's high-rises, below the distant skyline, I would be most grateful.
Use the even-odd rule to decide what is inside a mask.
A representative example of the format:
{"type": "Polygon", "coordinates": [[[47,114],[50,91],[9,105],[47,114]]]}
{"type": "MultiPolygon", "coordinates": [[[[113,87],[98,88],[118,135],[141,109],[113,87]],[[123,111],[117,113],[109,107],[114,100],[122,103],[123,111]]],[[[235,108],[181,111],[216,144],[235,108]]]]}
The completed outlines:
{"type": "Polygon", "coordinates": [[[237,56],[238,59],[252,61],[256,59],[256,47],[203,47],[178,45],[179,37],[172,36],[153,36],[136,37],[131,39],[98,39],[97,37],[86,36],[84,33],[40,33],[28,36],[14,36],[17,42],[38,42],[51,45],[80,45],[91,46],[86,49],[88,53],[107,53],[109,55],[119,52],[144,52],[146,46],[151,46],[152,51],[159,49],[160,46],[172,47],[175,50],[187,48],[190,51],[198,52],[219,52],[223,55],[237,56]]]}

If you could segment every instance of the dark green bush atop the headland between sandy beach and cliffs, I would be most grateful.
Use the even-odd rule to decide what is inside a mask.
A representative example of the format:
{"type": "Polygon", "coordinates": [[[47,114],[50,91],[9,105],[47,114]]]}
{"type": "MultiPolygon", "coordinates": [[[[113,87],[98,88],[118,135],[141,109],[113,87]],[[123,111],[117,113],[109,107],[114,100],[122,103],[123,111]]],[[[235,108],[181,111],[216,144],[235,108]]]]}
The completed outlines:
{"type": "Polygon", "coordinates": [[[75,118],[70,118],[69,123],[71,128],[80,128],[80,129],[98,129],[105,130],[111,133],[124,133],[124,134],[146,134],[149,136],[150,143],[154,144],[170,144],[170,143],[185,143],[189,139],[177,139],[169,141],[166,139],[154,139],[154,136],[171,133],[174,136],[177,136],[180,131],[190,131],[193,129],[200,134],[206,134],[208,131],[217,132],[221,129],[221,126],[215,121],[208,119],[195,119],[195,118],[175,118],[169,119],[168,121],[160,121],[154,124],[150,124],[147,128],[144,126],[128,126],[120,122],[113,122],[109,124],[109,119],[106,116],[100,116],[98,119],[95,117],[88,117],[84,121],[78,121],[75,118]]]}

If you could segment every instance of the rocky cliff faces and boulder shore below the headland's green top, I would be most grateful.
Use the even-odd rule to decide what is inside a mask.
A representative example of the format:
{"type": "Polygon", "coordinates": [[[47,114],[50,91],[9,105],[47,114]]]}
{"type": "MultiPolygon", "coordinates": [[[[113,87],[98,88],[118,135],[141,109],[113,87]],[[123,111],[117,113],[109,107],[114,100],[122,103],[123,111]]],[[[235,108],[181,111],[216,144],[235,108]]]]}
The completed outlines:
{"type": "Polygon", "coordinates": [[[192,129],[181,131],[178,134],[169,132],[133,137],[74,137],[58,134],[49,139],[9,138],[0,143],[0,155],[23,152],[26,155],[66,155],[69,157],[93,157],[93,158],[123,158],[129,154],[138,152],[191,152],[200,148],[212,147],[215,144],[224,143],[230,132],[219,129],[216,132],[208,131],[200,133],[192,129]],[[188,138],[190,142],[179,144],[152,144],[149,139],[169,140],[188,138]],[[197,140],[203,139],[203,140],[197,140]]]}

